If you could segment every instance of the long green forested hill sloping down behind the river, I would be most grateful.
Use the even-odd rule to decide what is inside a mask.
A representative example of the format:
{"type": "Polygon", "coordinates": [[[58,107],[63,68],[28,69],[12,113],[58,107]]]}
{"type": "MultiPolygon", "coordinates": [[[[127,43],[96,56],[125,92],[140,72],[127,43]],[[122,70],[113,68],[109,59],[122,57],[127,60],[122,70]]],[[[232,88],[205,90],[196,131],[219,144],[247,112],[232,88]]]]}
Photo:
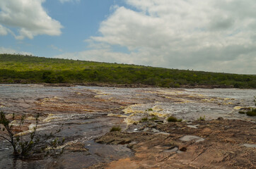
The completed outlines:
{"type": "Polygon", "coordinates": [[[256,75],[0,54],[0,83],[109,83],[159,87],[220,85],[256,88],[256,75]]]}

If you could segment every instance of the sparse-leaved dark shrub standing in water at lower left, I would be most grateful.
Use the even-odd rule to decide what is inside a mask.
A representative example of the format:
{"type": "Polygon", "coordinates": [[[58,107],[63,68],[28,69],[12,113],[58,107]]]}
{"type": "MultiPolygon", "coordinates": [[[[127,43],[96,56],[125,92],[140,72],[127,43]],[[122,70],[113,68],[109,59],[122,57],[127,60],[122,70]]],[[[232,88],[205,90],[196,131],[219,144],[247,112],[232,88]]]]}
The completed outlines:
{"type": "Polygon", "coordinates": [[[35,116],[35,127],[25,135],[21,133],[23,124],[25,122],[25,115],[21,115],[20,119],[16,119],[16,116],[12,115],[11,118],[7,118],[7,114],[3,111],[0,112],[0,137],[6,139],[13,147],[13,155],[21,158],[28,158],[33,156],[33,151],[40,152],[44,156],[62,154],[63,149],[57,150],[57,146],[64,144],[65,139],[58,141],[59,138],[54,138],[54,134],[60,132],[57,130],[54,134],[45,134],[44,137],[36,136],[39,113],[35,116]],[[14,123],[19,121],[18,125],[14,123]],[[42,140],[43,138],[43,140],[42,140]]]}

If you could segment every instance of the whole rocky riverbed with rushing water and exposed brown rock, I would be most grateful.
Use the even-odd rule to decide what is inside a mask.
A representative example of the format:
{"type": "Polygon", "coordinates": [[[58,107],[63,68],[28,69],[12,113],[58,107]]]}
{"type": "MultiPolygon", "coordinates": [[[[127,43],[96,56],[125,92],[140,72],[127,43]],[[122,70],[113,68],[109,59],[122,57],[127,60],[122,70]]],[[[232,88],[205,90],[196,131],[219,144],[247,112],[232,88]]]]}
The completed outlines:
{"type": "Polygon", "coordinates": [[[44,87],[1,84],[0,107],[25,113],[28,133],[40,113],[39,132],[63,125],[64,154],[12,158],[0,140],[0,168],[255,168],[252,89],[44,87]],[[181,123],[167,123],[174,115],[181,123]],[[205,121],[197,120],[204,118],[205,121]],[[219,118],[221,117],[221,118],[219,118]],[[219,118],[219,120],[216,120],[219,118]],[[109,132],[112,126],[122,132],[109,132]]]}

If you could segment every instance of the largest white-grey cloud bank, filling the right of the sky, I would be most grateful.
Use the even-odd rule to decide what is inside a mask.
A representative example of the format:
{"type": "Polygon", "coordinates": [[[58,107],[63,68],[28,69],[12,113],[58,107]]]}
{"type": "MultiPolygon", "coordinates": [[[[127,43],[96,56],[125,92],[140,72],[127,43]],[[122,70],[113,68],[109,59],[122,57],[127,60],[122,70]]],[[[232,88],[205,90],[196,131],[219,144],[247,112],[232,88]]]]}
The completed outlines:
{"type": "MultiPolygon", "coordinates": [[[[102,51],[103,58],[165,68],[256,73],[254,0],[127,0],[127,4],[136,11],[115,6],[100,24],[102,35],[89,40],[127,47],[130,54],[108,50],[102,51]]],[[[90,53],[98,61],[98,52],[83,51],[76,57],[87,58],[90,53]]]]}

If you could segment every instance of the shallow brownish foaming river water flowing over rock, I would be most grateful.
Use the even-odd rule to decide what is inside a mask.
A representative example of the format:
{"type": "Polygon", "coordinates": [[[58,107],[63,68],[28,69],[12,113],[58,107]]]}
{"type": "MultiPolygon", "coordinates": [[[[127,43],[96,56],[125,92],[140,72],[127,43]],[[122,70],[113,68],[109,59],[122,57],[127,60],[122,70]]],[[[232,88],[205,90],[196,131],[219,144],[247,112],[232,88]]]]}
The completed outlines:
{"type": "Polygon", "coordinates": [[[23,134],[33,129],[40,113],[38,132],[51,132],[63,125],[59,136],[66,144],[82,142],[88,152],[71,152],[57,158],[22,161],[12,158],[11,146],[0,140],[0,168],[86,168],[132,156],[126,146],[96,144],[93,139],[114,125],[122,130],[151,115],[183,120],[219,117],[255,122],[238,113],[255,106],[255,89],[163,89],[115,87],[44,87],[40,84],[0,84],[0,110],[26,115],[23,134]]]}

